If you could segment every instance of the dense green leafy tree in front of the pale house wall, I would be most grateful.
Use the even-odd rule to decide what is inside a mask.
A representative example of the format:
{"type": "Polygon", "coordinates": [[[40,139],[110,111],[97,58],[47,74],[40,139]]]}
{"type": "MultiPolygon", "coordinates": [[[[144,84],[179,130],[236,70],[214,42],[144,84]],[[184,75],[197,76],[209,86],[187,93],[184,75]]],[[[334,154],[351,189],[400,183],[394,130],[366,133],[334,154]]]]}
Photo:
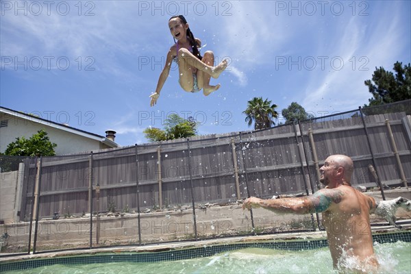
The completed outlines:
{"type": "Polygon", "coordinates": [[[53,156],[55,155],[55,147],[57,145],[50,142],[47,132],[40,129],[29,139],[24,136],[17,137],[15,142],[8,144],[4,154],[12,156],[53,156]]]}

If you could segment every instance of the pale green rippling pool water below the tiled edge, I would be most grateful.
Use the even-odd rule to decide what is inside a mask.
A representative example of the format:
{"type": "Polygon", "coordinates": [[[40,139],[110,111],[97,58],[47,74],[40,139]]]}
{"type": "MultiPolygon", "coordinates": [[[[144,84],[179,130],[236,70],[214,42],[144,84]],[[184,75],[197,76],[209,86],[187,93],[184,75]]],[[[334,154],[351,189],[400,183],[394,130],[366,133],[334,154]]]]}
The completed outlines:
{"type": "MultiPolygon", "coordinates": [[[[411,273],[411,242],[375,243],[380,273],[411,273]]],[[[6,273],[338,273],[327,247],[303,251],[247,248],[206,258],[163,262],[105,264],[54,264],[6,273]]]]}

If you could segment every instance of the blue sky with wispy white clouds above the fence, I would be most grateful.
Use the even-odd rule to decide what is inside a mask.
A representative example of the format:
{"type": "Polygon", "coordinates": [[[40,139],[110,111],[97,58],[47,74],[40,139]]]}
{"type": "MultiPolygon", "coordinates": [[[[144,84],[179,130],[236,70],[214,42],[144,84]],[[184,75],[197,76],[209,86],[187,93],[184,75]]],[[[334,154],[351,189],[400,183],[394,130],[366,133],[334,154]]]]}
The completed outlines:
{"type": "Polygon", "coordinates": [[[193,116],[201,135],[249,130],[242,111],[253,97],[279,114],[292,101],[316,117],[353,110],[368,103],[376,66],[410,62],[410,14],[411,1],[2,0],[0,105],[114,129],[120,145],[147,142],[142,131],[172,113],[193,116]],[[229,66],[204,97],[179,87],[173,65],[150,108],[175,14],[229,66]]]}

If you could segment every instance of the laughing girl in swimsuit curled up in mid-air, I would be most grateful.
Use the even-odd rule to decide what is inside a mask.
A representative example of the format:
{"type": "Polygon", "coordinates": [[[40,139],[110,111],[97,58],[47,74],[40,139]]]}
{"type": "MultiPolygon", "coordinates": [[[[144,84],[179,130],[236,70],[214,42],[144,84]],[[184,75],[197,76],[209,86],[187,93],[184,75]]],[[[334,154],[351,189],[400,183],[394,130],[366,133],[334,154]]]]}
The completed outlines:
{"type": "Polygon", "coordinates": [[[214,53],[206,51],[200,55],[201,41],[195,38],[184,16],[173,16],[169,20],[169,28],[175,44],[167,53],[166,65],[158,79],[155,92],[150,95],[150,105],[153,106],[160,96],[160,90],[164,86],[171,68],[171,62],[177,62],[179,70],[179,84],[187,92],[199,92],[203,89],[205,96],[218,90],[220,84],[210,86],[210,77],[218,78],[227,67],[227,60],[223,60],[218,66],[214,65],[214,53]]]}

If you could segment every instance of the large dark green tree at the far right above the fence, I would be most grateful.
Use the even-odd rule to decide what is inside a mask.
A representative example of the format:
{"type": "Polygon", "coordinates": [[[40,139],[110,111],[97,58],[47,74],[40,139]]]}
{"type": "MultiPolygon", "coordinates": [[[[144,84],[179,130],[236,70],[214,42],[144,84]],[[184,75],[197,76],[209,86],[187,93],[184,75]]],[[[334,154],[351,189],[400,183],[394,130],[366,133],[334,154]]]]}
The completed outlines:
{"type": "Polygon", "coordinates": [[[402,62],[394,64],[395,74],[391,71],[386,71],[382,66],[373,73],[372,80],[364,81],[364,84],[369,87],[369,92],[373,95],[369,99],[369,105],[382,105],[385,103],[394,103],[411,99],[411,66],[403,66],[402,62]]]}

